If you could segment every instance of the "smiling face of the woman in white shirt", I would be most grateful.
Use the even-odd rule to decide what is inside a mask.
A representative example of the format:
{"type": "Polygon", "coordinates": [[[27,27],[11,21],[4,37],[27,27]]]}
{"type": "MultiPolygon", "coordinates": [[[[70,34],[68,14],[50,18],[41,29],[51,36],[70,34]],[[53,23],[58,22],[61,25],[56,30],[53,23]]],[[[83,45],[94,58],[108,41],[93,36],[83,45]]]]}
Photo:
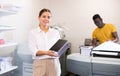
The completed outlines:
{"type": "Polygon", "coordinates": [[[50,12],[43,12],[41,16],[39,16],[40,25],[49,26],[51,20],[50,12]]]}

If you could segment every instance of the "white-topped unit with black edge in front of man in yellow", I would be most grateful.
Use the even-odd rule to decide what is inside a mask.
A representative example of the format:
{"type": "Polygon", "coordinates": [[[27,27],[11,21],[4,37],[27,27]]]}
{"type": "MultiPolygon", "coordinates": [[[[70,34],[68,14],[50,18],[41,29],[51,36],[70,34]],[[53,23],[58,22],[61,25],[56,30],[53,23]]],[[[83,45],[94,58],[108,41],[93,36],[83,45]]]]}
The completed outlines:
{"type": "Polygon", "coordinates": [[[92,54],[93,56],[109,56],[109,57],[120,57],[120,45],[114,43],[112,41],[107,41],[102,43],[101,45],[93,48],[92,54]]]}

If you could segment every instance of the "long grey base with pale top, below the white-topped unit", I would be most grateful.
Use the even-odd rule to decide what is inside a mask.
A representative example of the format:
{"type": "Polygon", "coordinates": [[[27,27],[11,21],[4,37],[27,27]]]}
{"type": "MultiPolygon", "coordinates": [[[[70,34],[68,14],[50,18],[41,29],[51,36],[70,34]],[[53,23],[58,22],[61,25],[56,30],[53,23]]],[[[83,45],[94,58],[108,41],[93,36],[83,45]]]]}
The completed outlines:
{"type": "Polygon", "coordinates": [[[120,76],[120,59],[73,53],[67,56],[67,71],[80,76],[120,76]]]}

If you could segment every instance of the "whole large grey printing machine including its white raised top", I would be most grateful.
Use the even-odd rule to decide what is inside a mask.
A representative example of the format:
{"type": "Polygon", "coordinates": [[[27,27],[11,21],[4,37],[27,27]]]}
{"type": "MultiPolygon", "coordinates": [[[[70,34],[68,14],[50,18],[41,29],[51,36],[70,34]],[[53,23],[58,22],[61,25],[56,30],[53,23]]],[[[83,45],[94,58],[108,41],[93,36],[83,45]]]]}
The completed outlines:
{"type": "Polygon", "coordinates": [[[119,44],[107,41],[89,50],[90,55],[68,55],[67,71],[80,76],[120,76],[119,44]]]}

